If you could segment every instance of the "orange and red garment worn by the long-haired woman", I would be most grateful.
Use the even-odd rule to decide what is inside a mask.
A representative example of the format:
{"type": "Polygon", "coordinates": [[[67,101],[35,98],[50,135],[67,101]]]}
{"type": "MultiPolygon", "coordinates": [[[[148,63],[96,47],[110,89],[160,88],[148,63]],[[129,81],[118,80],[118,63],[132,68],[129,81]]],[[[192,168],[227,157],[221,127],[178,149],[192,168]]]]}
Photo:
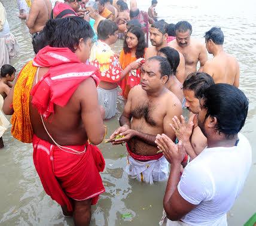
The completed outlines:
{"type": "MultiPolygon", "coordinates": [[[[132,63],[133,61],[136,61],[136,60],[137,60],[136,57],[132,57],[132,52],[127,52],[127,54],[126,54],[126,53],[124,53],[124,49],[122,49],[122,51],[120,52],[119,61],[120,61],[120,65],[121,65],[122,69],[125,69],[130,63],[132,63]]],[[[128,78],[129,78],[129,73],[118,84],[118,85],[120,85],[120,87],[122,89],[123,97],[126,98],[126,99],[127,99],[128,94],[130,92],[130,89],[132,89],[132,87],[127,84],[128,78]]]]}

